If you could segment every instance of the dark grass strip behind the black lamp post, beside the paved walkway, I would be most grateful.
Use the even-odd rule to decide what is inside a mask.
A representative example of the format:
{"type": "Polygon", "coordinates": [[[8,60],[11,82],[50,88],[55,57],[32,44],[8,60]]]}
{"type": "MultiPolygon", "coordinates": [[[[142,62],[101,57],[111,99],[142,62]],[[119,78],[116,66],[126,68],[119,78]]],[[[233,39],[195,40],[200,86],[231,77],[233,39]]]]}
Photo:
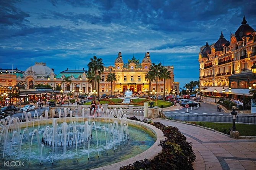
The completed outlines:
{"type": "MultiPolygon", "coordinates": [[[[219,132],[229,135],[230,128],[233,127],[232,123],[214,123],[214,122],[188,122],[203,127],[215,129],[219,132]]],[[[236,130],[240,133],[240,136],[256,136],[256,125],[240,124],[236,123],[236,130]]]]}

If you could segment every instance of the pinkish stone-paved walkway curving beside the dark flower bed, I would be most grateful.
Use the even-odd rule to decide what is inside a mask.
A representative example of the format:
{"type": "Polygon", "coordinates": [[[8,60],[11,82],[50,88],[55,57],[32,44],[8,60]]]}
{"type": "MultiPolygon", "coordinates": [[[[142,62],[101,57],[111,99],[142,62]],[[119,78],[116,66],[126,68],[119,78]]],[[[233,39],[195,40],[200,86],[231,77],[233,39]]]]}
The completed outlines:
{"type": "Polygon", "coordinates": [[[192,143],[197,160],[193,163],[194,170],[256,170],[255,139],[233,139],[171,120],[155,118],[153,121],[178,127],[187,141],[192,143]]]}

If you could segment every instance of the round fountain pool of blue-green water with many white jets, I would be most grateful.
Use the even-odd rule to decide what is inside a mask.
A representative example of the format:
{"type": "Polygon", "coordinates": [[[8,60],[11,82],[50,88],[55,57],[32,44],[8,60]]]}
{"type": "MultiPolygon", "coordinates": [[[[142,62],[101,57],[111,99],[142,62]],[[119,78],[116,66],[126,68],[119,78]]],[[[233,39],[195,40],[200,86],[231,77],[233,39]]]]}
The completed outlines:
{"type": "Polygon", "coordinates": [[[23,112],[26,122],[10,116],[1,120],[0,168],[20,160],[29,169],[91,169],[134,157],[156,141],[152,132],[129,126],[122,109],[100,109],[101,117],[84,108],[80,117],[72,117],[72,111],[68,117],[67,111],[60,109],[58,118],[45,111],[45,117],[36,113],[33,119],[23,112]]]}

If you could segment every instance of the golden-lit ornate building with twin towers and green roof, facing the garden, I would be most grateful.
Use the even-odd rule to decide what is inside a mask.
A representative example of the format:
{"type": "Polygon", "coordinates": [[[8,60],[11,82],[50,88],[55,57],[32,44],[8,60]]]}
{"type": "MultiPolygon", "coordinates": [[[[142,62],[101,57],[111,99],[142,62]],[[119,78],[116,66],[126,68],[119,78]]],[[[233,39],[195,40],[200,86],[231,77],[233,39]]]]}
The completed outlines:
{"type": "MultiPolygon", "coordinates": [[[[104,74],[102,75],[102,81],[100,81],[100,94],[110,92],[110,83],[106,82],[107,74],[109,72],[115,72],[117,81],[112,87],[112,91],[117,90],[118,93],[130,88],[136,94],[144,93],[144,90],[149,90],[149,82],[145,76],[151,66],[151,59],[149,51],[145,53],[142,62],[136,59],[134,56],[128,59],[127,63],[123,63],[122,53],[119,51],[117,58],[115,59],[115,66],[105,67],[104,74]]],[[[167,66],[167,69],[171,72],[171,79],[165,81],[165,88],[170,92],[176,89],[175,93],[179,93],[179,83],[174,82],[173,66],[167,66]]],[[[151,83],[152,89],[156,89],[156,81],[151,83]]],[[[164,81],[158,81],[159,94],[164,93],[164,81]]]]}

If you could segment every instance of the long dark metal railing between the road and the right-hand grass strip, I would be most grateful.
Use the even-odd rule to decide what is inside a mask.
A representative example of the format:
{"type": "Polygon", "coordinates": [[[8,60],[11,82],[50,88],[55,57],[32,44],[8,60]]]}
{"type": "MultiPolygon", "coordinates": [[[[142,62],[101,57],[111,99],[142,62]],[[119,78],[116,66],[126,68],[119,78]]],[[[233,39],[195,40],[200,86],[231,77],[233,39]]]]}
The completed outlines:
{"type": "MultiPolygon", "coordinates": [[[[177,115],[165,114],[173,120],[182,121],[195,121],[195,122],[225,122],[232,123],[231,115],[177,115]]],[[[252,123],[256,124],[256,116],[237,116],[236,122],[238,123],[252,123]]]]}

